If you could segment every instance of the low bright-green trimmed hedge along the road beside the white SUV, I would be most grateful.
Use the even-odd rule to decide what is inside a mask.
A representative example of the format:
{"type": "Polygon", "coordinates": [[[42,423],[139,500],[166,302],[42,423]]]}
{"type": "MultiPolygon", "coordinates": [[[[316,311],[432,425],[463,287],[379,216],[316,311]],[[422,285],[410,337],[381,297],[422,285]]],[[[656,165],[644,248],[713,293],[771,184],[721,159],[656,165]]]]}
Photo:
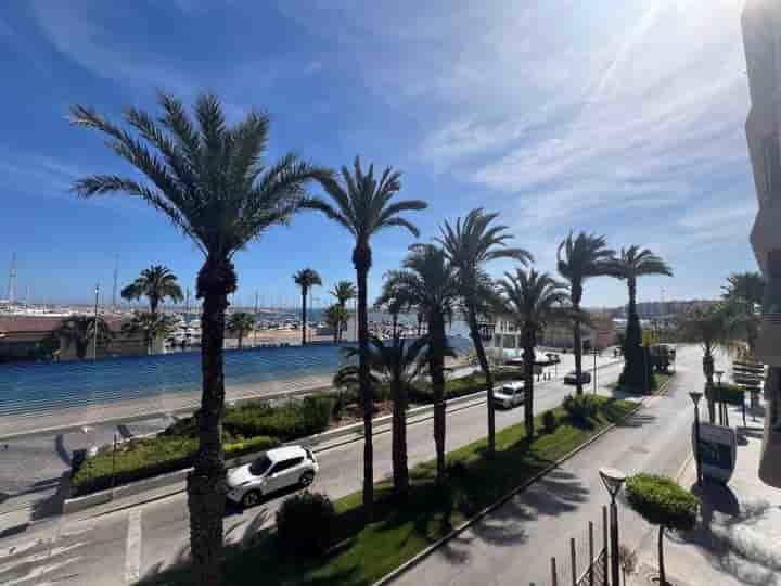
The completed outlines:
{"type": "MultiPolygon", "coordinates": [[[[238,458],[253,451],[276,447],[280,442],[273,437],[258,436],[225,446],[226,458],[238,458]]],[[[88,458],[71,480],[74,496],[87,495],[110,488],[112,470],[115,471],[115,486],[143,479],[183,470],[193,464],[197,440],[194,437],[158,436],[132,440],[121,444],[113,463],[113,447],[102,448],[88,458]]]]}

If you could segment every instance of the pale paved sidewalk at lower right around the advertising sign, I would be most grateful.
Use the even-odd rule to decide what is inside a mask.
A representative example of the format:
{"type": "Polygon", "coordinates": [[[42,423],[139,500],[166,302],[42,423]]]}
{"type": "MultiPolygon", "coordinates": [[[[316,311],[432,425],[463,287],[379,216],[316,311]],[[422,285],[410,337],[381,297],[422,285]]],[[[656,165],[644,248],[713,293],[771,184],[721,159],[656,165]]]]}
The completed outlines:
{"type": "MultiPolygon", "coordinates": [[[[764,418],[743,428],[741,411],[730,410],[738,431],[738,462],[728,486],[696,486],[696,469],[690,459],[679,483],[702,498],[701,519],[688,535],[665,536],[667,579],[676,586],[781,585],[781,489],[759,481],[764,418]]],[[[779,462],[781,466],[781,462],[779,462]]],[[[650,584],[657,574],[656,531],[638,551],[639,571],[630,586],[650,584]]]]}

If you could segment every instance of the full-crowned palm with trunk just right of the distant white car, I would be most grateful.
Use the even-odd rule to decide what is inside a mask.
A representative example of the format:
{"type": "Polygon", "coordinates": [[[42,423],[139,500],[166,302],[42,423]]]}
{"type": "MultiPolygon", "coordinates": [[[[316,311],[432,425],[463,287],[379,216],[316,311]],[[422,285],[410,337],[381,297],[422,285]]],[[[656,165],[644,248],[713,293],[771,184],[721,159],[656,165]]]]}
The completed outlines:
{"type": "Polygon", "coordinates": [[[499,286],[504,292],[507,308],[521,328],[524,362],[524,423],[526,435],[534,435],[534,365],[537,335],[565,310],[569,302],[566,285],[547,272],[516,269],[515,275],[504,273],[499,286]]]}

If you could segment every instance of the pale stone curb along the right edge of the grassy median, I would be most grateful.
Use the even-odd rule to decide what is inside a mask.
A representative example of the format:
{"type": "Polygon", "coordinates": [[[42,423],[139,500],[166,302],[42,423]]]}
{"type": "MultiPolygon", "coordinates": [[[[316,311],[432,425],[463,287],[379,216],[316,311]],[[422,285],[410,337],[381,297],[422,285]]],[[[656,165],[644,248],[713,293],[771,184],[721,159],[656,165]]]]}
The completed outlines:
{"type": "MultiPolygon", "coordinates": [[[[631,416],[633,416],[636,412],[638,412],[638,411],[645,405],[645,402],[646,402],[648,399],[651,399],[651,398],[653,398],[653,397],[657,397],[657,396],[662,396],[663,394],[666,394],[666,393],[667,393],[667,387],[669,386],[669,383],[670,383],[671,380],[673,380],[673,377],[670,377],[669,379],[667,379],[667,381],[665,381],[665,383],[660,387],[660,390],[658,390],[658,392],[657,392],[656,394],[650,395],[650,396],[646,396],[646,397],[642,397],[642,398],[638,402],[637,407],[636,407],[635,409],[632,409],[629,413],[627,413],[627,418],[628,418],[628,417],[631,417],[631,416]]],[[[625,418],[625,419],[626,419],[626,418],[625,418]]],[[[453,537],[457,537],[459,534],[461,534],[461,533],[463,533],[464,531],[466,531],[469,527],[471,527],[472,525],[474,525],[477,521],[479,521],[481,519],[483,519],[484,517],[486,517],[486,515],[489,514],[490,512],[495,511],[496,509],[498,509],[499,507],[501,507],[502,505],[504,505],[508,500],[510,500],[512,497],[514,497],[514,496],[517,495],[518,493],[524,492],[526,488],[528,488],[530,485],[533,485],[534,483],[536,483],[538,480],[540,480],[541,477],[546,476],[549,472],[555,470],[556,468],[559,468],[559,466],[561,466],[562,463],[564,463],[566,460],[568,460],[569,458],[572,458],[573,456],[575,456],[575,455],[578,454],[579,451],[586,449],[588,446],[590,446],[591,444],[593,444],[597,440],[599,440],[600,437],[602,437],[604,434],[606,434],[607,432],[610,432],[610,431],[612,431],[613,429],[615,429],[615,426],[616,426],[616,423],[611,423],[610,425],[607,425],[607,426],[604,428],[603,430],[597,432],[594,435],[592,435],[591,437],[589,437],[586,442],[584,442],[582,444],[580,444],[579,446],[577,446],[577,447],[576,447],[575,449],[573,449],[572,451],[569,451],[569,453],[565,454],[564,456],[562,456],[561,458],[559,458],[555,462],[553,462],[552,464],[550,464],[548,468],[546,468],[546,469],[543,469],[543,470],[540,470],[540,471],[537,472],[534,476],[532,476],[530,479],[526,480],[523,484],[521,484],[521,485],[517,486],[516,488],[513,488],[512,491],[510,491],[507,495],[504,495],[503,497],[501,497],[499,500],[492,502],[491,505],[488,505],[488,507],[486,507],[485,509],[483,509],[482,511],[479,511],[478,513],[476,513],[474,517],[471,517],[470,519],[468,519],[466,521],[464,521],[463,523],[461,523],[458,527],[453,528],[450,533],[448,533],[448,534],[445,535],[444,537],[440,537],[439,539],[437,539],[436,542],[434,542],[432,545],[430,545],[427,548],[425,548],[424,550],[422,550],[422,551],[420,551],[419,553],[417,553],[414,557],[412,557],[412,558],[410,558],[409,560],[407,560],[405,563],[402,563],[401,565],[399,565],[396,570],[393,570],[393,571],[389,572],[388,574],[385,574],[383,577],[381,577],[380,579],[377,579],[376,582],[374,582],[374,583],[372,584],[372,586],[385,586],[386,584],[390,584],[390,583],[392,583],[393,581],[395,581],[397,577],[401,576],[404,573],[408,572],[409,570],[411,570],[412,568],[414,568],[415,565],[418,565],[420,562],[422,562],[423,560],[425,560],[428,556],[431,556],[432,553],[434,553],[434,551],[436,551],[437,549],[439,549],[439,548],[440,548],[443,545],[445,545],[447,542],[449,542],[449,540],[452,539],[453,537]]]]}

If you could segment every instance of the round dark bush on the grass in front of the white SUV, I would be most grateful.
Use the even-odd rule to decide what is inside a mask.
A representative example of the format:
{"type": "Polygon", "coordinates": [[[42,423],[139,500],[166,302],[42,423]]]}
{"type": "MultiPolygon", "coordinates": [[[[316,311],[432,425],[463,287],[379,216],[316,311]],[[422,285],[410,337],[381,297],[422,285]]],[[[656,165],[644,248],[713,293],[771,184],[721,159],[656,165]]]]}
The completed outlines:
{"type": "Polygon", "coordinates": [[[280,547],[293,555],[317,555],[331,545],[336,510],[331,499],[305,491],[282,504],[277,511],[277,537],[280,547]]]}

